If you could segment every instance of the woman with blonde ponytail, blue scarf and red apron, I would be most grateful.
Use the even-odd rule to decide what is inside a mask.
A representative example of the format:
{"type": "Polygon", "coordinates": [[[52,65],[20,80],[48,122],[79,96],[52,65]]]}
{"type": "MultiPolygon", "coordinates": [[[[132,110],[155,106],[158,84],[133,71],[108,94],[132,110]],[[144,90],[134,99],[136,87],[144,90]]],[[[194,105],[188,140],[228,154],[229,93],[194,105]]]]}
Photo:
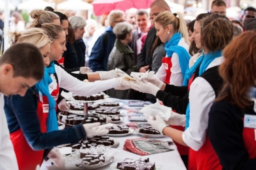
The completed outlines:
{"type": "Polygon", "coordinates": [[[166,51],[156,75],[165,83],[181,86],[190,58],[186,22],[181,13],[165,11],[156,17],[155,28],[166,51]]]}

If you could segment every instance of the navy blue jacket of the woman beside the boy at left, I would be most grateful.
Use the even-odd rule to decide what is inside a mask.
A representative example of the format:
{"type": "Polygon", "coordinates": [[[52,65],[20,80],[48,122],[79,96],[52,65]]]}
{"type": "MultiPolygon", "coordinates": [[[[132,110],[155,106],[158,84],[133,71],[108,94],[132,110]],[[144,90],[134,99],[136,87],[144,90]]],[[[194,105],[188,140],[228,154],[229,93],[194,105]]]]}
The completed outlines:
{"type": "Polygon", "coordinates": [[[33,150],[44,150],[66,143],[78,143],[86,139],[82,124],[60,131],[42,133],[37,117],[37,94],[35,87],[32,87],[27,90],[24,97],[19,95],[5,97],[4,109],[10,133],[21,129],[33,150]]]}

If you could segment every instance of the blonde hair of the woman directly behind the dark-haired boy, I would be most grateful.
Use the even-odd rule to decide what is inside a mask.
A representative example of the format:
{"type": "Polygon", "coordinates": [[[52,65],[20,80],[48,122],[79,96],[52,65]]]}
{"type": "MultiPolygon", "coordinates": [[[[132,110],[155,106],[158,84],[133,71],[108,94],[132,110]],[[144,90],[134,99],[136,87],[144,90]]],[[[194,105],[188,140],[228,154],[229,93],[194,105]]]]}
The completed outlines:
{"type": "Polygon", "coordinates": [[[41,28],[30,28],[21,33],[13,33],[12,35],[13,44],[18,42],[28,42],[34,44],[37,48],[45,46],[47,43],[50,43],[51,40],[46,35],[45,31],[41,28]]]}

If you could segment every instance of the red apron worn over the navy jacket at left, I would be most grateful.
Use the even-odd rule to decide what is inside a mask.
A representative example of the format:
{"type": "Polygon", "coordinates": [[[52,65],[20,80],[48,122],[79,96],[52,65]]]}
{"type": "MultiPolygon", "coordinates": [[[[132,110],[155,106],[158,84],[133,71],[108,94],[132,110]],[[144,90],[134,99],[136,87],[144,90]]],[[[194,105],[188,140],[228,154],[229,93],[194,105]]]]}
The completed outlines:
{"type": "MultiPolygon", "coordinates": [[[[55,76],[55,74],[54,74],[55,76]]],[[[58,83],[58,78],[56,78],[58,83]]],[[[57,89],[53,90],[51,96],[57,101],[59,95],[59,84],[57,89]]],[[[47,96],[38,95],[38,104],[37,104],[37,117],[40,122],[41,132],[47,132],[46,122],[48,118],[49,103],[47,96]]],[[[17,157],[19,170],[35,170],[36,166],[42,164],[43,161],[43,152],[44,150],[34,151],[30,145],[27,143],[27,140],[19,129],[16,132],[10,134],[11,141],[13,143],[14,152],[17,157]]]]}

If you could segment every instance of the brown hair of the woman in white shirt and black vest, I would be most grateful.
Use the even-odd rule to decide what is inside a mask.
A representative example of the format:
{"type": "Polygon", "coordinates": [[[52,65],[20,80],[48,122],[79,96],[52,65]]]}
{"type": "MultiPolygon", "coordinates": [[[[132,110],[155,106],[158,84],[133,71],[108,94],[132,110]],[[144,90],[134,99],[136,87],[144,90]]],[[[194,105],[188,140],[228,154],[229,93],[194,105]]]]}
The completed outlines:
{"type": "Polygon", "coordinates": [[[224,49],[233,38],[233,24],[221,14],[211,14],[201,24],[201,44],[206,52],[224,49]]]}

